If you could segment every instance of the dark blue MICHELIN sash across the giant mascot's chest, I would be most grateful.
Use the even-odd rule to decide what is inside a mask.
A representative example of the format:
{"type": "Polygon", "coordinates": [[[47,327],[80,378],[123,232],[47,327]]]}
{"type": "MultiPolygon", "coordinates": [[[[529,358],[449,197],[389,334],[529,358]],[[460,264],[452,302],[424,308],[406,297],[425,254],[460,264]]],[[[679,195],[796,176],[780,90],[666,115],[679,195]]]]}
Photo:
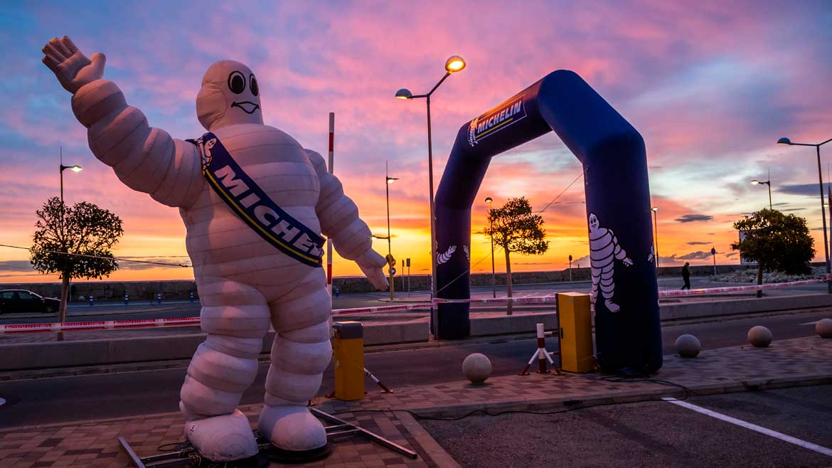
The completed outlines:
{"type": "Polygon", "coordinates": [[[277,206],[213,133],[188,140],[200,148],[208,185],[260,237],[309,266],[321,266],[324,238],[277,206]]]}

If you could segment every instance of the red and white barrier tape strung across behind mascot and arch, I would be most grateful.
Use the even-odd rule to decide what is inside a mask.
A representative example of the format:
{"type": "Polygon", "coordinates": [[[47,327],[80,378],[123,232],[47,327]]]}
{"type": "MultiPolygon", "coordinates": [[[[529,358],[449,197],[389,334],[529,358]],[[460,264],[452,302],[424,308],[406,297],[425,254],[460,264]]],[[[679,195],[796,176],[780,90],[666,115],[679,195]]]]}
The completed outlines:
{"type": "MultiPolygon", "coordinates": [[[[827,276],[828,278],[828,276],[827,276]]],[[[666,290],[659,291],[659,297],[677,297],[677,296],[699,296],[705,294],[714,294],[720,292],[737,292],[737,291],[755,291],[758,289],[774,289],[778,287],[800,286],[805,284],[820,283],[828,281],[827,279],[817,280],[803,280],[803,281],[788,281],[784,283],[769,283],[763,285],[749,285],[749,286],[724,286],[711,287],[706,289],[691,289],[691,290],[666,290]]],[[[497,298],[483,298],[483,299],[433,299],[433,304],[497,304],[505,302],[514,303],[534,303],[534,302],[554,302],[557,301],[557,296],[531,296],[531,297],[497,297],[497,298]]],[[[396,306],[377,306],[377,307],[356,307],[353,309],[335,309],[332,311],[333,316],[342,316],[348,314],[369,314],[378,312],[395,312],[395,311],[412,311],[414,309],[428,309],[430,302],[414,302],[410,304],[402,304],[396,306]]],[[[122,330],[126,328],[153,328],[156,326],[194,326],[200,324],[200,317],[183,317],[183,318],[156,318],[156,319],[140,319],[140,320],[107,320],[107,321],[72,321],[64,324],[61,323],[19,323],[11,325],[0,325],[0,333],[25,333],[32,331],[66,331],[66,330],[122,330]]]]}

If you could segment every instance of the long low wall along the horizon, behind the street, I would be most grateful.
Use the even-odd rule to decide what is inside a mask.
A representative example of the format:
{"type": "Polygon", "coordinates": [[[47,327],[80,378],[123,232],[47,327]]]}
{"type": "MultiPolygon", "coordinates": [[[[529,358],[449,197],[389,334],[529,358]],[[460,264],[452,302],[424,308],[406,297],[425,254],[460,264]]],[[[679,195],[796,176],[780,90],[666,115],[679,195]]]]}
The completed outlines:
{"type": "MultiPolygon", "coordinates": [[[[819,264],[820,265],[820,264],[819,264]]],[[[746,266],[717,265],[717,273],[744,270],[746,266]]],[[[399,273],[402,269],[399,267],[399,273]]],[[[713,266],[691,266],[691,275],[709,276],[713,274],[713,266]]],[[[660,276],[681,276],[681,266],[662,266],[660,276]]],[[[572,268],[572,281],[589,281],[589,268],[572,268]]],[[[512,273],[513,284],[534,284],[569,281],[569,271],[520,271],[512,273]]],[[[375,288],[369,284],[364,276],[336,277],[332,280],[340,292],[372,292],[375,288]]],[[[407,276],[398,275],[394,278],[396,291],[406,291],[407,276]]],[[[497,273],[495,283],[505,286],[505,273],[497,273]]],[[[471,275],[471,286],[491,286],[491,273],[474,273],[471,275]]],[[[0,285],[0,289],[27,289],[37,292],[41,296],[57,297],[61,292],[60,283],[23,283],[0,285]]],[[[410,276],[411,291],[427,291],[430,289],[429,275],[410,276]]],[[[186,299],[190,291],[198,297],[194,281],[73,281],[72,301],[79,301],[79,296],[85,298],[94,296],[96,301],[122,301],[124,293],[130,294],[131,301],[150,301],[161,292],[165,299],[186,299]]]]}

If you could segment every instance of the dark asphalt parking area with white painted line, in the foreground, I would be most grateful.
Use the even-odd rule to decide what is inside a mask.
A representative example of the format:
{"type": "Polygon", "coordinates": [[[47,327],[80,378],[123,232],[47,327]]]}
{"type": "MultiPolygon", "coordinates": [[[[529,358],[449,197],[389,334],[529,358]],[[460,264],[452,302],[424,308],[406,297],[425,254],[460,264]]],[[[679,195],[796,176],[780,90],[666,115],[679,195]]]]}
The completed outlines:
{"type": "MultiPolygon", "coordinates": [[[[832,448],[832,386],[694,397],[687,402],[832,448]]],[[[832,465],[828,455],[663,401],[546,416],[419,422],[463,468],[832,465]]]]}

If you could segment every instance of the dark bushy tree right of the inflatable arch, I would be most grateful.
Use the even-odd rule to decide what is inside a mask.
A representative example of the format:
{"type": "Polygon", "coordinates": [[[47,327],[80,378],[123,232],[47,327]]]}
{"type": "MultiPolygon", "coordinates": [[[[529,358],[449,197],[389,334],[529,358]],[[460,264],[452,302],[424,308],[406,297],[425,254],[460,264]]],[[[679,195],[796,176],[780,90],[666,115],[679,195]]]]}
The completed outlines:
{"type": "MultiPolygon", "coordinates": [[[[782,271],[790,275],[811,272],[809,262],[815,257],[815,240],[806,220],[777,210],[762,209],[734,223],[745,233],[743,241],[731,244],[731,250],[757,262],[757,284],[763,284],[763,271],[782,271]]],[[[763,292],[757,291],[757,297],[763,292]]]]}

